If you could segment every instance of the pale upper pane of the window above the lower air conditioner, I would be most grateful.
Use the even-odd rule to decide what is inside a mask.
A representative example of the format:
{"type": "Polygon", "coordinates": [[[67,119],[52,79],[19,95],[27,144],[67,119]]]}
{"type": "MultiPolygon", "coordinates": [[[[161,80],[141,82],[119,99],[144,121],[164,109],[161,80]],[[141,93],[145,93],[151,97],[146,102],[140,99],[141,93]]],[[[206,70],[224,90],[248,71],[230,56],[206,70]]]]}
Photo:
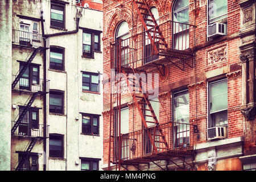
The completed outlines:
{"type": "Polygon", "coordinates": [[[228,83],[221,81],[210,84],[210,113],[228,108],[228,83]]]}

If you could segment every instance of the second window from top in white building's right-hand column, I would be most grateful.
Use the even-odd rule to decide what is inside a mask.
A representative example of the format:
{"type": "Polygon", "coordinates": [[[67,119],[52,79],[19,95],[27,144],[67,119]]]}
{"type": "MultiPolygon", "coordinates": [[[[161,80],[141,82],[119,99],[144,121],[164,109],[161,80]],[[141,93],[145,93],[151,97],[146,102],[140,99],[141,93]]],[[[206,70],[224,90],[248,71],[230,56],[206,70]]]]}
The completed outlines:
{"type": "Polygon", "coordinates": [[[97,73],[82,73],[82,90],[100,92],[99,77],[97,73]]]}

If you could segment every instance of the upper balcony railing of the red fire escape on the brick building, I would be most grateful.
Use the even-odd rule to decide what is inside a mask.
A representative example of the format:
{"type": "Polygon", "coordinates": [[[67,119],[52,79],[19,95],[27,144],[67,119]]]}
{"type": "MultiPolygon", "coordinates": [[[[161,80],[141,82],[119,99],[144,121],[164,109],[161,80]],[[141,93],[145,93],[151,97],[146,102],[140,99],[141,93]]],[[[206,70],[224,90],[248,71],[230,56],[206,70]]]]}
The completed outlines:
{"type": "Polygon", "coordinates": [[[114,41],[110,44],[112,68],[117,68],[119,59],[121,59],[123,68],[139,68],[150,61],[164,57],[170,60],[188,59],[193,52],[194,33],[195,26],[192,24],[168,20],[160,24],[157,29],[152,27],[130,38],[114,41]],[[158,50],[157,55],[148,37],[148,32],[158,50]]]}

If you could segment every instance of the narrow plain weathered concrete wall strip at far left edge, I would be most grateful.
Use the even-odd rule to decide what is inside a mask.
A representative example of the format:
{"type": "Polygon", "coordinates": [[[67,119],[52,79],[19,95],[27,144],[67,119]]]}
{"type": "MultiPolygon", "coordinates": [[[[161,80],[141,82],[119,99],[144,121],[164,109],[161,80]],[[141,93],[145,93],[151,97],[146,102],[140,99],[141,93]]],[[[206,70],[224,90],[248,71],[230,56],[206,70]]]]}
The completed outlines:
{"type": "Polygon", "coordinates": [[[11,16],[12,0],[0,2],[0,171],[11,158],[11,16]]]}

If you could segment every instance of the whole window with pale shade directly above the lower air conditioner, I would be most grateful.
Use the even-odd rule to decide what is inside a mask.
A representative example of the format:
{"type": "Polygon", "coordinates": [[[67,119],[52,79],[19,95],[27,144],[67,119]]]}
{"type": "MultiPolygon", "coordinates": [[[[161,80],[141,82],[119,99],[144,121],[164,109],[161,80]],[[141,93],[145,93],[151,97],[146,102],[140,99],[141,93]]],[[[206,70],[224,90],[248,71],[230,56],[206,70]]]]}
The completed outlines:
{"type": "Polygon", "coordinates": [[[228,82],[209,83],[209,128],[228,125],[228,82]]]}

